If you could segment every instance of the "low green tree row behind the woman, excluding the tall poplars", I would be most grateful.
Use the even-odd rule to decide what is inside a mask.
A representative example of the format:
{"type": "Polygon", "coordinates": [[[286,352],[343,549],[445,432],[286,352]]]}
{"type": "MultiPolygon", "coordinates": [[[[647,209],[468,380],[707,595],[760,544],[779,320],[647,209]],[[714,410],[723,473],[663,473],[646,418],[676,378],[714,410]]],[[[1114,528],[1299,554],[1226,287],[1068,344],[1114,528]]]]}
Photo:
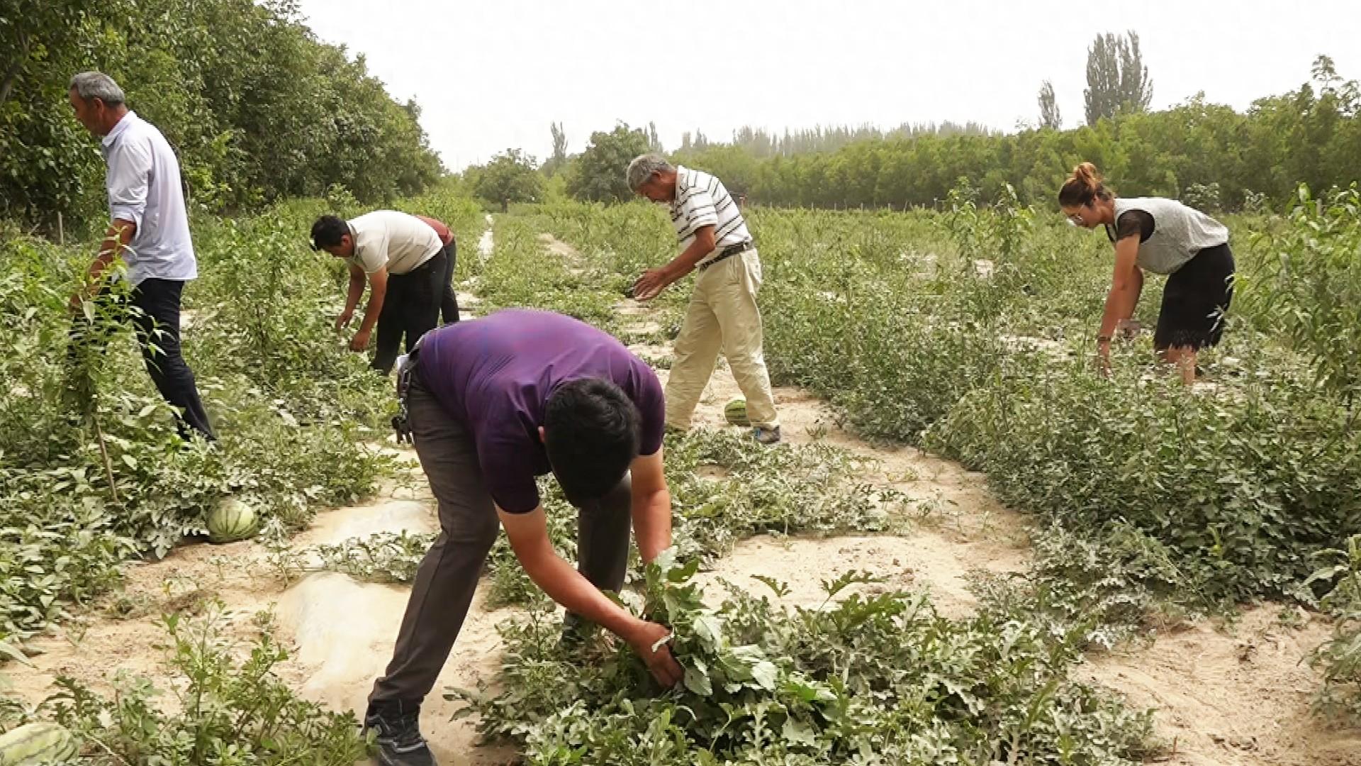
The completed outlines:
{"type": "Polygon", "coordinates": [[[1326,189],[1361,179],[1358,90],[1320,57],[1311,82],[1245,112],[1198,95],[1162,112],[1116,110],[1067,131],[867,139],[769,158],[713,146],[674,158],[761,204],[932,206],[960,179],[984,195],[1011,184],[1023,202],[1048,203],[1077,162],[1092,161],[1127,196],[1192,196],[1211,209],[1240,209],[1283,200],[1300,183],[1326,189]]]}

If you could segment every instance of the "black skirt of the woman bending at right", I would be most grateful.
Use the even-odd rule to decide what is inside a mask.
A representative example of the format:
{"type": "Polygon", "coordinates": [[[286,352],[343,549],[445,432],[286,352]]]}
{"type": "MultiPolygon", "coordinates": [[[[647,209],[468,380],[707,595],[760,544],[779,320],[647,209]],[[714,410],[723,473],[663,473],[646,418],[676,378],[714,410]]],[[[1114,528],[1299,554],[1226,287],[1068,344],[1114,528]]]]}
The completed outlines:
{"type": "Polygon", "coordinates": [[[1157,349],[1214,346],[1224,334],[1224,315],[1233,300],[1233,252],[1229,244],[1195,254],[1168,277],[1153,334],[1157,349]]]}

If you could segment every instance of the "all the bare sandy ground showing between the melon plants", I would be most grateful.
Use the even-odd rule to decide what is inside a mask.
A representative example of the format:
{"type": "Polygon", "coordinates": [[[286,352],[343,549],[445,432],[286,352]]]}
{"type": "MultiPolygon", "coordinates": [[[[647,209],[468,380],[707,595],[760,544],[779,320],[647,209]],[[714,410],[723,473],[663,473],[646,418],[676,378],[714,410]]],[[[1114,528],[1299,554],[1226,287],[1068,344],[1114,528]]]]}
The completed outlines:
{"type": "MultiPolygon", "coordinates": [[[[551,237],[548,239],[551,240],[551,237]]],[[[569,245],[544,240],[565,258],[580,256],[569,245]]],[[[490,228],[482,247],[493,247],[490,228]]],[[[685,285],[678,286],[680,289],[685,285]]],[[[675,289],[675,288],[674,288],[675,289]]],[[[475,296],[459,296],[460,307],[478,313],[475,296]]],[[[653,311],[637,301],[617,307],[626,334],[651,334],[653,311]]],[[[634,345],[649,360],[670,356],[668,346],[634,345]]],[[[663,380],[666,369],[659,369],[663,380]]],[[[704,579],[724,578],[739,587],[769,594],[754,575],[788,583],[789,604],[821,602],[821,581],[847,570],[868,570],[886,578],[885,587],[925,589],[938,609],[961,616],[974,604],[966,587],[972,568],[1021,571],[1028,563],[1023,517],[1002,507],[981,474],[911,447],[879,448],[841,429],[830,408],[799,388],[776,388],[787,442],[823,442],[875,459],[864,480],[897,489],[911,503],[916,523],[902,536],[842,536],[832,538],[757,537],[736,547],[704,579]]],[[[695,425],[725,428],[723,406],[740,397],[720,363],[695,413],[695,425]]],[[[397,450],[389,444],[388,450],[397,450]]],[[[374,532],[430,532],[434,508],[423,474],[412,461],[411,481],[384,488],[376,500],[317,515],[293,541],[295,551],[339,542],[374,532]]],[[[275,615],[279,638],[293,646],[278,672],[302,695],[336,710],[362,713],[373,679],[391,657],[408,589],[362,583],[339,574],[310,574],[283,582],[267,551],[256,541],[192,545],[167,559],[128,568],[124,590],[110,594],[54,635],[38,639],[34,668],[7,668],[10,694],[37,702],[52,692],[52,680],[65,673],[108,690],[114,672],[143,673],[163,683],[166,667],[157,649],[166,638],[159,616],[171,611],[201,612],[210,598],[227,608],[229,631],[246,638],[252,616],[275,615]]],[[[510,748],[474,747],[470,722],[449,722],[455,705],[444,701],[445,686],[475,686],[499,662],[498,622],[513,609],[487,611],[479,589],[463,634],[436,691],[422,710],[422,731],[440,763],[495,765],[514,759],[510,748]]],[[[1158,735],[1176,743],[1172,763],[1185,766],[1361,766],[1356,732],[1332,732],[1309,714],[1316,675],[1300,658],[1323,641],[1327,628],[1307,620],[1302,628],[1277,619],[1279,608],[1243,615],[1232,631],[1198,623],[1160,637],[1149,646],[1089,658],[1083,677],[1127,695],[1141,707],[1157,707],[1158,735]]]]}

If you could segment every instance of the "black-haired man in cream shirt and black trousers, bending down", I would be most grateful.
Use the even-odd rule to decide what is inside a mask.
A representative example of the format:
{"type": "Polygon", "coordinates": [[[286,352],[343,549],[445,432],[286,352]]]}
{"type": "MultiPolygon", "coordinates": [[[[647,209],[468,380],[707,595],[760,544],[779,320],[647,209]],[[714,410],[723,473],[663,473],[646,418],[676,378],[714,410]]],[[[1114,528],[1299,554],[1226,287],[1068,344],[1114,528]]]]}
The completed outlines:
{"type": "Polygon", "coordinates": [[[350,324],[363,284],[369,282],[369,305],[350,349],[366,349],[377,324],[373,368],[378,372],[387,375],[392,369],[403,337],[411,353],[421,335],[440,323],[449,254],[425,221],[396,210],[374,210],[350,221],[323,215],[312,225],[312,248],[350,264],[350,290],[336,319],[338,330],[350,324]]]}

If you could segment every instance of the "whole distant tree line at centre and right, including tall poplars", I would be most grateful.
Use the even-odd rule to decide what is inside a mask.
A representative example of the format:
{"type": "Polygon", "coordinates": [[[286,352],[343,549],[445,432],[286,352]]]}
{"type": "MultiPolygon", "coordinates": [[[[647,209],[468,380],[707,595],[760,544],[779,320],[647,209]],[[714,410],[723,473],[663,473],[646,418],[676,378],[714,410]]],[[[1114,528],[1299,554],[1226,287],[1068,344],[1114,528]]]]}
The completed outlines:
{"type": "MultiPolygon", "coordinates": [[[[1132,35],[1130,35],[1132,38],[1132,35]]],[[[1010,184],[1030,204],[1052,202],[1059,184],[1079,161],[1092,161],[1126,196],[1175,196],[1207,210],[1239,210],[1283,202],[1300,183],[1315,189],[1345,188],[1361,179],[1361,87],[1338,75],[1320,56],[1309,82],[1281,95],[1255,101],[1245,112],[1210,104],[1203,94],[1161,112],[1147,112],[1151,80],[1138,57],[1136,38],[1098,40],[1089,68],[1089,124],[1059,129],[1062,117],[1052,86],[1041,89],[1040,127],[989,134],[970,125],[852,139],[829,151],[795,151],[817,146],[819,129],[806,143],[776,142],[753,128],[731,143],[697,143],[693,138],[671,158],[712,172],[727,187],[758,204],[810,207],[930,207],[940,204],[961,179],[984,198],[1010,184]]],[[[655,128],[619,123],[596,131],[577,154],[568,154],[561,124],[551,125],[554,154],[540,173],[563,176],[562,188],[588,202],[627,200],[623,183],[629,161],[656,151],[655,128]]],[[[853,128],[821,129],[838,140],[853,128]]],[[[490,164],[497,179],[479,194],[493,202],[529,202],[542,184],[525,180],[534,158],[508,151],[490,164]],[[521,192],[520,189],[532,189],[521,192]]],[[[470,168],[465,177],[486,176],[470,168]]]]}

